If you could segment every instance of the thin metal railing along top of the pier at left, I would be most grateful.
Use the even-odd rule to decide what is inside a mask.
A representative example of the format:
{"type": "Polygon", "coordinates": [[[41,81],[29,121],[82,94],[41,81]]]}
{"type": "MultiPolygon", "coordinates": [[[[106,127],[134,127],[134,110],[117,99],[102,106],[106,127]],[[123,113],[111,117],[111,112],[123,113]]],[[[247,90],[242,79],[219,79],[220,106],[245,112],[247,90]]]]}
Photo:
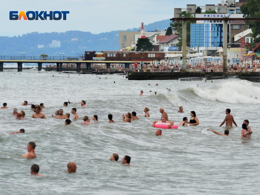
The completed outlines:
{"type": "Polygon", "coordinates": [[[83,60],[82,57],[75,56],[0,56],[0,60],[46,60],[46,61],[57,61],[57,60],[83,60]]]}

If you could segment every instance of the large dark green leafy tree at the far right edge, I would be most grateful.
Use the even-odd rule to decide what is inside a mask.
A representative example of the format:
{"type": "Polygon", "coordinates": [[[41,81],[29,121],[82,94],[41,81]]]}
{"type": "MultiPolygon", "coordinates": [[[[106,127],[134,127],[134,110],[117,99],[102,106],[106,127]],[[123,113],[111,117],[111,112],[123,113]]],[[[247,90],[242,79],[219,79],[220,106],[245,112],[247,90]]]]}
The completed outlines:
{"type": "MultiPolygon", "coordinates": [[[[260,1],[259,0],[248,0],[247,3],[240,6],[241,12],[245,18],[259,18],[260,17],[260,1]]],[[[252,38],[254,41],[251,42],[250,46],[256,46],[260,42],[260,21],[247,21],[246,24],[252,30],[252,38]]],[[[259,51],[259,47],[258,47],[259,51]]]]}

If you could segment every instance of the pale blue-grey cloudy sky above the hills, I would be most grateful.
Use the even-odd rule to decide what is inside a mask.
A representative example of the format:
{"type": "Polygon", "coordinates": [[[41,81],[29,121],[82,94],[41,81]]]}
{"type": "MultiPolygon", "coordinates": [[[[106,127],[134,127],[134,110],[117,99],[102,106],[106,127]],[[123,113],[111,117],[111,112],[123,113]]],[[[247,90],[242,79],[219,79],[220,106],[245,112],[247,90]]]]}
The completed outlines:
{"type": "Polygon", "coordinates": [[[137,28],[173,18],[174,8],[187,4],[205,6],[221,0],[10,0],[0,6],[0,36],[30,32],[65,32],[69,30],[102,33],[137,28]],[[69,11],[67,20],[9,20],[9,11],[69,11]]]}

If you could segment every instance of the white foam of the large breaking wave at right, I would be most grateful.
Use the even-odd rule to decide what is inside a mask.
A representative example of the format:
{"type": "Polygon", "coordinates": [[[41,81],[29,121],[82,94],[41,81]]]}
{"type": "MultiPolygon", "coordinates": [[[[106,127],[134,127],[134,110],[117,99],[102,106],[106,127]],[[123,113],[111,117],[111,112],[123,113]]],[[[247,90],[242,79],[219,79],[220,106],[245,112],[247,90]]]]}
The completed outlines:
{"type": "Polygon", "coordinates": [[[202,99],[210,101],[258,104],[260,100],[260,88],[244,80],[224,81],[211,89],[194,86],[192,90],[202,99]],[[254,97],[257,97],[258,100],[255,100],[254,97]]]}

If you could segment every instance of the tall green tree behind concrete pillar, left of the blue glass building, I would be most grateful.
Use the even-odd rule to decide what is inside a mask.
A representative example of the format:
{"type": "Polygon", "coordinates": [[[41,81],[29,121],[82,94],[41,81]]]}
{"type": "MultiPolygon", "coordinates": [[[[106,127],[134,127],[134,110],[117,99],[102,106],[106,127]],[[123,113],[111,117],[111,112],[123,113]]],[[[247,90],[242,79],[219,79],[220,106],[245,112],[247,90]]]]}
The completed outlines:
{"type": "MultiPolygon", "coordinates": [[[[180,17],[192,18],[191,14],[187,13],[186,11],[181,12],[180,17]]],[[[187,47],[190,46],[191,22],[192,21],[187,20],[187,47]]],[[[179,51],[181,51],[181,47],[182,47],[182,22],[176,23],[174,29],[177,29],[177,32],[175,34],[180,35],[179,38],[178,38],[179,42],[176,44],[176,46],[179,47],[179,51]]]]}

